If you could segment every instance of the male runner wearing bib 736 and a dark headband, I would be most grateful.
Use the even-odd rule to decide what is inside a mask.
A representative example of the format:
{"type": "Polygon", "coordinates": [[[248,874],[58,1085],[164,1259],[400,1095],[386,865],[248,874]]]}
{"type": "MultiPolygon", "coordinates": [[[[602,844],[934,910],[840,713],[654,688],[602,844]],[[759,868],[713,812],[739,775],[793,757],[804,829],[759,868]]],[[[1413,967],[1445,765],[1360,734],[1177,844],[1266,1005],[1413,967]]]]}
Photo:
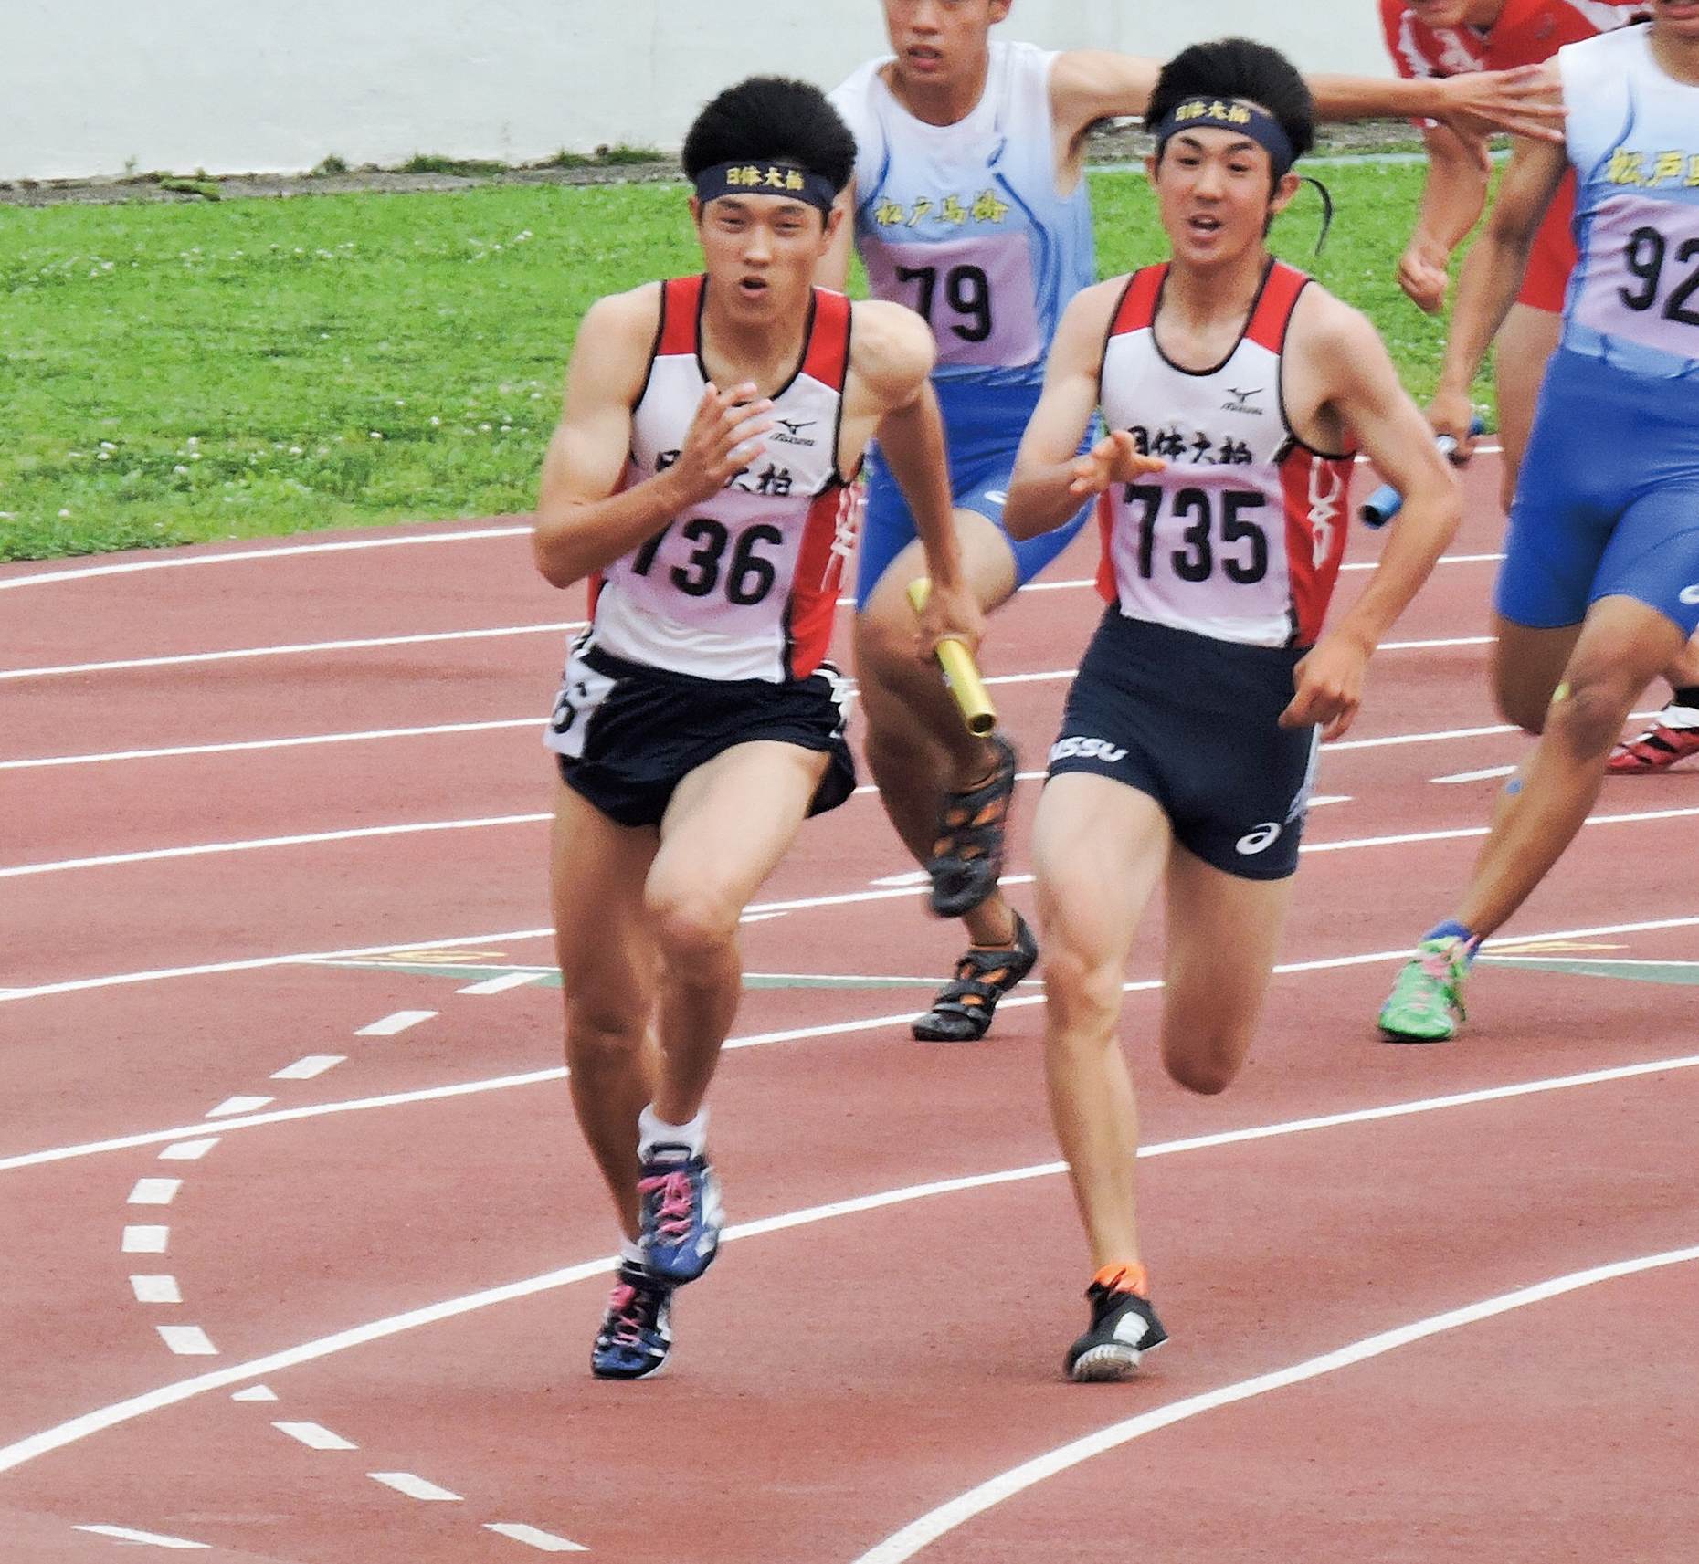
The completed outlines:
{"type": "Polygon", "coordinates": [[[673,1289],[719,1245],[703,1104],[741,997],[737,920],[804,817],[855,786],[824,657],[875,430],[926,543],[928,635],[979,639],[931,338],[810,285],[853,160],[800,82],[703,109],[683,163],[705,275],[591,306],[544,464],[537,565],[591,581],[547,742],[573,1105],[625,1235],[591,1352],[608,1379],[666,1362],[673,1289]]]}

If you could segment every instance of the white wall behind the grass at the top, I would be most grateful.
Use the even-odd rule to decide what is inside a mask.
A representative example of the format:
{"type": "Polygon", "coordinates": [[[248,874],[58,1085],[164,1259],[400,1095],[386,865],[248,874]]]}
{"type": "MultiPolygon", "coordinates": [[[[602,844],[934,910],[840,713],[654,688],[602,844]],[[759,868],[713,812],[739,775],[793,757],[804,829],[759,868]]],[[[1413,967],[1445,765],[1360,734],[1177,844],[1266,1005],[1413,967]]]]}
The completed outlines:
{"type": "MultiPolygon", "coordinates": [[[[1001,31],[1388,73],[1373,0],[1018,0],[1001,31]]],[[[729,82],[831,87],[883,42],[877,0],[0,0],[0,178],[676,148],[729,82]]]]}

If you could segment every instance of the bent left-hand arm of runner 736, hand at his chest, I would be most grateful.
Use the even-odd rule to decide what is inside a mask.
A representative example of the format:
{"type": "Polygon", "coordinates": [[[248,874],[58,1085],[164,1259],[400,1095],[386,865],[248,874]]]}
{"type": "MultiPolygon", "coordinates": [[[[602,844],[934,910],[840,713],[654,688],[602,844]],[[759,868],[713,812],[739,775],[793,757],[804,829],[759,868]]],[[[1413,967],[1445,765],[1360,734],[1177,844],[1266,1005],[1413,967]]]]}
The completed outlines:
{"type": "Polygon", "coordinates": [[[678,460],[618,491],[659,309],[659,284],[649,284],[598,299],[578,328],[532,530],[532,554],[550,586],[583,581],[652,538],[685,506],[717,494],[759,455],[771,428],[773,404],[758,401],[754,385],[708,385],[678,460]]]}

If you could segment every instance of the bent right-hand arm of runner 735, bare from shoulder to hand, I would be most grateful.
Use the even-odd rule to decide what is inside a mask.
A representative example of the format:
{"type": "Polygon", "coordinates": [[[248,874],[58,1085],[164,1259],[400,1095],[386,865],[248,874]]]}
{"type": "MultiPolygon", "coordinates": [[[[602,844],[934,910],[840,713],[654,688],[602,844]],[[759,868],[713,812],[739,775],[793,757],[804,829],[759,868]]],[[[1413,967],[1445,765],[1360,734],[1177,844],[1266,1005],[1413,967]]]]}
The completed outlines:
{"type": "MultiPolygon", "coordinates": [[[[1283,727],[1318,722],[1324,739],[1337,739],[1363,701],[1369,657],[1456,535],[1463,499],[1456,474],[1368,319],[1320,289],[1307,289],[1288,343],[1301,343],[1303,353],[1290,382],[1295,399],[1320,399],[1329,418],[1358,436],[1376,469],[1403,494],[1374,574],[1298,664],[1296,693],[1281,713],[1283,727]]],[[[1288,346],[1288,362],[1291,357],[1288,346]]]]}

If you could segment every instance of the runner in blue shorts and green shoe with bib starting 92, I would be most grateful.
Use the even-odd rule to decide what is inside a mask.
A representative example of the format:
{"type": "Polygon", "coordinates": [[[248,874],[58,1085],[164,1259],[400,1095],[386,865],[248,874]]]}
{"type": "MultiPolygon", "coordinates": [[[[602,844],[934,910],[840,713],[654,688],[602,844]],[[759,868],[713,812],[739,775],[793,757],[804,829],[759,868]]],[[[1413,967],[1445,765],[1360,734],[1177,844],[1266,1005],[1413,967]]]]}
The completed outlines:
{"type": "Polygon", "coordinates": [[[1634,701],[1699,628],[1699,0],[1651,0],[1650,27],[1560,49],[1556,75],[1566,148],[1517,146],[1446,348],[1468,384],[1573,166],[1580,263],[1495,601],[1499,705],[1539,744],[1381,1007],[1397,1043],[1456,1036],[1482,939],[1573,841],[1634,701]]]}

